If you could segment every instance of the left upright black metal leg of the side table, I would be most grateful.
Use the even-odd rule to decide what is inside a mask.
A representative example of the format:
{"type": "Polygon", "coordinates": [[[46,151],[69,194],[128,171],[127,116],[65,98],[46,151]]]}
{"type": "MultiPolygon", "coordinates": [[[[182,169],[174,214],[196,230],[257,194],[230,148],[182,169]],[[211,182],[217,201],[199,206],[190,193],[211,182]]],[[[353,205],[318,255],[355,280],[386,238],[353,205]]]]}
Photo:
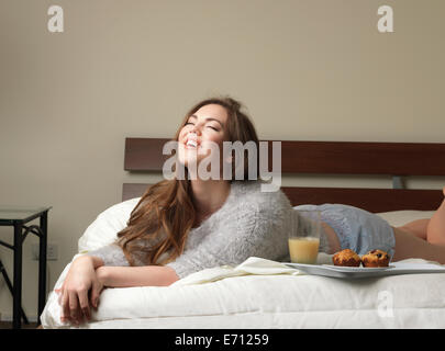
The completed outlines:
{"type": "Polygon", "coordinates": [[[12,327],[20,329],[22,326],[20,308],[22,306],[22,227],[21,223],[14,223],[14,278],[13,278],[13,303],[12,327]]]}

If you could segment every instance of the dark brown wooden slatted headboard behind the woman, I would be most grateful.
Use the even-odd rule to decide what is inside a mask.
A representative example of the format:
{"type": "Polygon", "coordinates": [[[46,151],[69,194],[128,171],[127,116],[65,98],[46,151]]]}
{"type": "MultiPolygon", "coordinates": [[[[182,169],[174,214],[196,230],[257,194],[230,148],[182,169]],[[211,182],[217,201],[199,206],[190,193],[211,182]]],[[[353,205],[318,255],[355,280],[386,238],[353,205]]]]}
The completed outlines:
{"type": "MultiPolygon", "coordinates": [[[[162,172],[168,138],[126,138],[124,169],[162,172]]],[[[263,140],[277,141],[277,140],[263,140]]],[[[436,210],[441,190],[403,189],[407,176],[445,176],[445,144],[281,141],[281,174],[386,174],[393,189],[282,186],[293,206],[341,203],[369,212],[436,210]]],[[[269,161],[271,143],[269,144],[269,161]]],[[[269,162],[271,165],[271,162],[269,162]]],[[[269,167],[269,170],[271,167],[269,167]]],[[[122,200],[141,196],[149,184],[124,183],[122,200]]]]}

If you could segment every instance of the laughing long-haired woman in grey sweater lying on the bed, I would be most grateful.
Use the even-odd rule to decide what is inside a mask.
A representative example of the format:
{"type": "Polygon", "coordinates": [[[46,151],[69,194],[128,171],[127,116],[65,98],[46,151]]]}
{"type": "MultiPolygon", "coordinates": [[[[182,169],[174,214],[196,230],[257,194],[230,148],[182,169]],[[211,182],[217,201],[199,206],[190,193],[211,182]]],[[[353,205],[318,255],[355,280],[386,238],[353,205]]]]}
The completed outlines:
{"type": "MultiPolygon", "coordinates": [[[[262,192],[259,180],[247,180],[247,155],[244,180],[234,180],[237,165],[232,157],[220,157],[219,179],[192,177],[209,154],[207,144],[214,143],[220,150],[223,141],[254,141],[258,146],[255,128],[241,107],[231,98],[214,98],[190,109],[175,135],[186,179],[163,180],[151,186],[115,244],[73,262],[57,291],[63,321],[89,319],[104,286],[169,285],[192,272],[238,264],[252,256],[289,259],[287,238],[297,212],[281,191],[262,192]],[[222,177],[227,165],[232,180],[222,177]]],[[[444,204],[431,220],[400,228],[351,206],[322,205],[319,210],[324,229],[320,251],[334,253],[357,247],[364,251],[378,246],[390,252],[396,249],[393,260],[420,257],[445,263],[444,204]],[[353,226],[359,226],[359,236],[353,226]]]]}

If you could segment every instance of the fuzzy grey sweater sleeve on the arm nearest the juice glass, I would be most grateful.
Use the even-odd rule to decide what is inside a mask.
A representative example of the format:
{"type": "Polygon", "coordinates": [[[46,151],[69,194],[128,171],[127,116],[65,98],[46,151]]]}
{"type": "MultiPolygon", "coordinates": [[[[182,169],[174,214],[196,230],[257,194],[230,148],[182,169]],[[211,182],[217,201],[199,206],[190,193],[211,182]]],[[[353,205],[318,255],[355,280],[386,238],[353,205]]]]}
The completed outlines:
{"type": "Polygon", "coordinates": [[[289,256],[288,233],[294,212],[281,191],[241,199],[225,215],[216,230],[167,263],[179,278],[208,268],[237,265],[249,257],[282,260],[289,256]]]}

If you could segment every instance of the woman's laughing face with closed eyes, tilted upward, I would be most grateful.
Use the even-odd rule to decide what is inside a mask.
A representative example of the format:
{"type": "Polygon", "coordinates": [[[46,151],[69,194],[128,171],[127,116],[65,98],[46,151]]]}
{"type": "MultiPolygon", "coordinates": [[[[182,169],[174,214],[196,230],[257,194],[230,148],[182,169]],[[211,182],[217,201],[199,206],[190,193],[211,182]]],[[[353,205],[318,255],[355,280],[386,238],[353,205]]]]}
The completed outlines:
{"type": "Polygon", "coordinates": [[[222,159],[223,141],[226,140],[227,112],[219,104],[208,104],[188,117],[179,132],[178,160],[188,167],[190,162],[199,162],[210,155],[210,145],[219,146],[222,159]]]}

